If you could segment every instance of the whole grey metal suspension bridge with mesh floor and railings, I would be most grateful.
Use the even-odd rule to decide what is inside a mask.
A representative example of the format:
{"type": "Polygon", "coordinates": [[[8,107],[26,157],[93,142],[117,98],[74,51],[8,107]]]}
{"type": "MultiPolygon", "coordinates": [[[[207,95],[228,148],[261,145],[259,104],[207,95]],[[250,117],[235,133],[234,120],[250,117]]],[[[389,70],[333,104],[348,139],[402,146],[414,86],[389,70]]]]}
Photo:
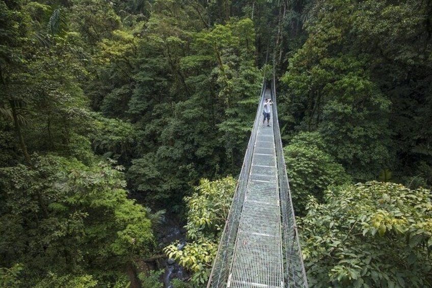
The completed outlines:
{"type": "Polygon", "coordinates": [[[308,287],[276,107],[265,83],[207,288],[308,287]],[[271,126],[262,125],[265,98],[271,126]]]}

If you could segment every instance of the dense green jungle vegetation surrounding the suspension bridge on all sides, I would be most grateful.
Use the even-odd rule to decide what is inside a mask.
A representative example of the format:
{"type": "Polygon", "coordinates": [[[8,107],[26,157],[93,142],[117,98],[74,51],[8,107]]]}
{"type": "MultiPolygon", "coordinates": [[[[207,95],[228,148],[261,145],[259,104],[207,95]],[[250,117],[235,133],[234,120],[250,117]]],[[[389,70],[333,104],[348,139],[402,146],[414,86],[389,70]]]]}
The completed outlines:
{"type": "Polygon", "coordinates": [[[204,287],[273,67],[309,285],[432,287],[426,0],[1,0],[0,286],[204,287]]]}

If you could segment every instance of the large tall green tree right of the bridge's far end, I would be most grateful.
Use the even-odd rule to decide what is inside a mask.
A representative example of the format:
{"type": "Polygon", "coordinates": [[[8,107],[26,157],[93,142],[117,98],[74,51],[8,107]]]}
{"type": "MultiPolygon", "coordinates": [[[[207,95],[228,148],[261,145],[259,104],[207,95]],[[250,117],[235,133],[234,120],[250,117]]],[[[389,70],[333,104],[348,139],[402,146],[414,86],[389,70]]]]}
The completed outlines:
{"type": "Polygon", "coordinates": [[[371,80],[369,57],[349,48],[355,4],[317,5],[309,39],[282,77],[290,89],[288,110],[298,129],[320,132],[331,155],[355,179],[371,179],[392,162],[390,101],[371,80]]]}

